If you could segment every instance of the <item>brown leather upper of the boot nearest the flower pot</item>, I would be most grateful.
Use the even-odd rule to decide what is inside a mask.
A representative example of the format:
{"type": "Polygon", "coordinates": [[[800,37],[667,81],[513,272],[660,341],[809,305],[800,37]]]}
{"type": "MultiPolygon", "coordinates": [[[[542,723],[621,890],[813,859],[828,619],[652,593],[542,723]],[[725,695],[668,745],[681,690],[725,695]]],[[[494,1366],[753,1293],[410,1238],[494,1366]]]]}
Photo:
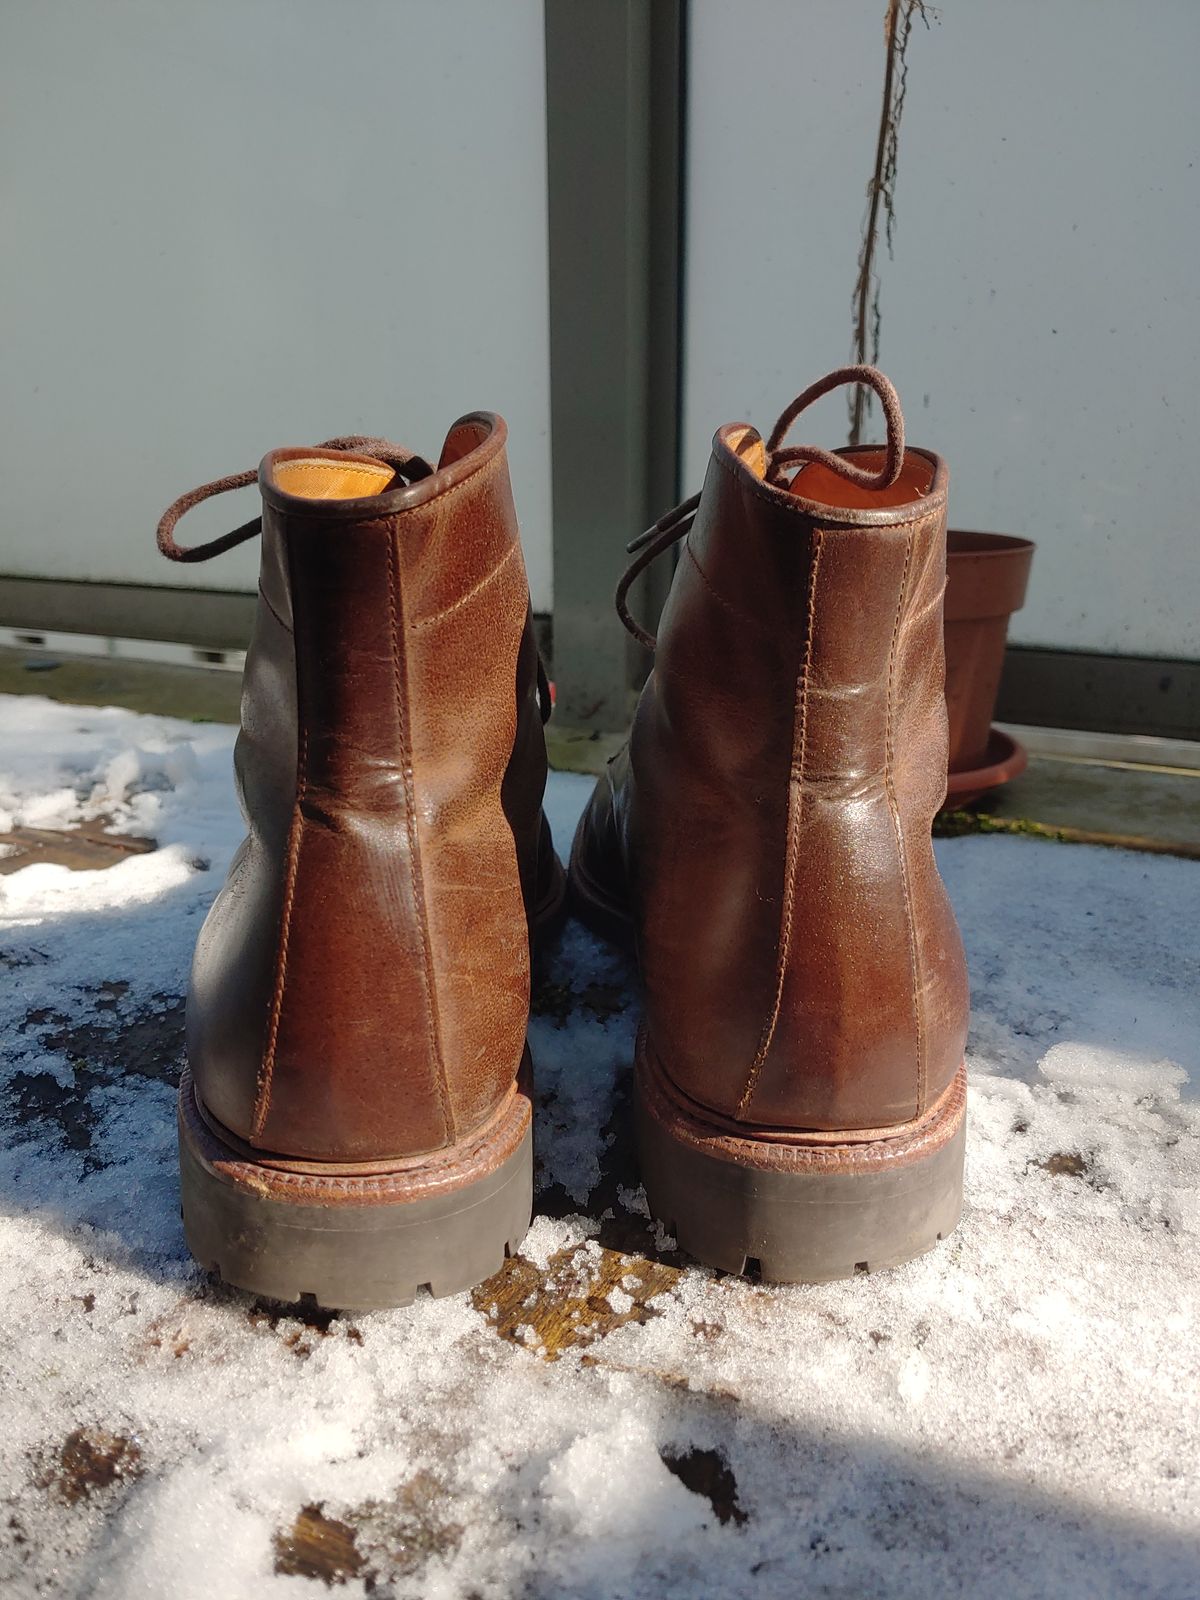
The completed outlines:
{"type": "Polygon", "coordinates": [[[894,1126],[950,1083],[968,1018],[930,837],[946,467],[909,451],[882,494],[821,466],[774,486],[755,442],[714,442],[578,861],[632,912],[650,1043],[683,1096],[749,1128],[894,1126]]]}

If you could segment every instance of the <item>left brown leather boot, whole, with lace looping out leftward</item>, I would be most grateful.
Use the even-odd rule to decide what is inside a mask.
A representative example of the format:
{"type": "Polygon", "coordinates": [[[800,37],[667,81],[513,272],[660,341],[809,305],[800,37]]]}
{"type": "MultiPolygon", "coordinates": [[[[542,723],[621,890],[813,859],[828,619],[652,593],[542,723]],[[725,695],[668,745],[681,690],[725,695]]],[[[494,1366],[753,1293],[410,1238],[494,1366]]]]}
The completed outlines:
{"type": "Polygon", "coordinates": [[[565,883],[506,427],[437,470],[379,440],[275,450],[235,768],[248,837],[200,933],[187,1243],[240,1288],[368,1309],[467,1288],[531,1206],[530,928],[565,883]],[[341,448],[339,448],[341,446],[341,448]]]}

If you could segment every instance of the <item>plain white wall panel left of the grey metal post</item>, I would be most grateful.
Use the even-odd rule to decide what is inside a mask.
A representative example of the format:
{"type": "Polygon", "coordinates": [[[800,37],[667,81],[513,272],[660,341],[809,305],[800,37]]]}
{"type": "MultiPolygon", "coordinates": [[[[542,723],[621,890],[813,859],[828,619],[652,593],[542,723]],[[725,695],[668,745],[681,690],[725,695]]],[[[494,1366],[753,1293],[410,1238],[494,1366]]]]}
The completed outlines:
{"type": "Polygon", "coordinates": [[[3,0],[0,210],[0,571],[253,587],[163,506],[491,408],[549,608],[539,0],[3,0]]]}

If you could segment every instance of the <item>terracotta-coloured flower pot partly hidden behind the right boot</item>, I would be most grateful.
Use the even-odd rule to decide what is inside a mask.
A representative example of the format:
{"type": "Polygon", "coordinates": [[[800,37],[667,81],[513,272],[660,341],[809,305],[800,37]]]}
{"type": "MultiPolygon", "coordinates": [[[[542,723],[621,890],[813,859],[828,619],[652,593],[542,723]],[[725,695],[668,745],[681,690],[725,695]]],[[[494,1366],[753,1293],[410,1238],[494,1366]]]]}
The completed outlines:
{"type": "Polygon", "coordinates": [[[1034,544],[1003,533],[946,536],[946,704],[955,805],[1014,778],[1026,752],[992,728],[1008,619],[1026,600],[1034,544]]]}

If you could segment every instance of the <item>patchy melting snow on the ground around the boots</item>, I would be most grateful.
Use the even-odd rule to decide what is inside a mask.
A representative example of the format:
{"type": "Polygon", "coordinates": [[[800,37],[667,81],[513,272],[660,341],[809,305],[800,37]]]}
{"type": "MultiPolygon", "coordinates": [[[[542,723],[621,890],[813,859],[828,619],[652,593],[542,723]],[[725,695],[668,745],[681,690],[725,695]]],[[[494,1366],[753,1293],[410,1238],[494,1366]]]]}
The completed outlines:
{"type": "MultiPolygon", "coordinates": [[[[210,1283],[178,1216],[232,739],[0,698],[0,813],[158,842],[0,878],[0,1592],[322,1592],[304,1515],[342,1530],[347,1597],[1200,1592],[1198,864],[939,843],[973,976],[966,1213],[821,1288],[717,1277],[651,1227],[632,973],[570,925],[509,1301],[302,1322],[210,1283]]],[[[550,781],[563,846],[587,790],[550,781]]]]}

